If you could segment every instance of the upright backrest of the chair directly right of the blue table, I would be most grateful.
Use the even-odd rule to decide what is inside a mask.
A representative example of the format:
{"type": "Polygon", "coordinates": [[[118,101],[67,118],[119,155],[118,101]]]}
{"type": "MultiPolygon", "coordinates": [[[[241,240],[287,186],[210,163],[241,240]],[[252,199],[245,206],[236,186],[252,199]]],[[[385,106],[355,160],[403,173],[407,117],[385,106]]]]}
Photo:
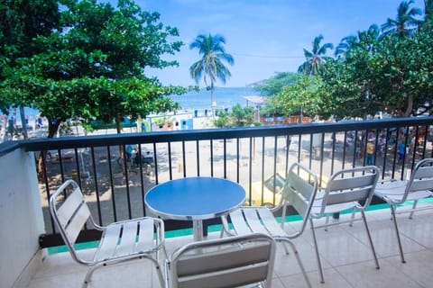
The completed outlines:
{"type": "MultiPolygon", "coordinates": [[[[303,220],[299,233],[301,233],[307,225],[309,212],[311,211],[317,192],[318,176],[308,167],[300,163],[292,164],[281,195],[284,204],[282,215],[286,215],[286,207],[288,204],[298,212],[303,220]]],[[[284,224],[284,218],[285,217],[281,218],[281,225],[284,224]]]]}

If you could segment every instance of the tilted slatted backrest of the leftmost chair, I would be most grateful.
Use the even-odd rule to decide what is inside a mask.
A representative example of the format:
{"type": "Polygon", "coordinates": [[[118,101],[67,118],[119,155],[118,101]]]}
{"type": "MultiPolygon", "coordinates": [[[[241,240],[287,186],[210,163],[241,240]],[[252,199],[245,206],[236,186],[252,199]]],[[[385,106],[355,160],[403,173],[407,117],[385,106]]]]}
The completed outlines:
{"type": "Polygon", "coordinates": [[[84,224],[91,219],[91,214],[75,181],[67,180],[51,195],[50,212],[70,254],[76,261],[82,262],[75,253],[74,243],[84,224]],[[60,195],[65,197],[64,200],[60,200],[60,195]]]}

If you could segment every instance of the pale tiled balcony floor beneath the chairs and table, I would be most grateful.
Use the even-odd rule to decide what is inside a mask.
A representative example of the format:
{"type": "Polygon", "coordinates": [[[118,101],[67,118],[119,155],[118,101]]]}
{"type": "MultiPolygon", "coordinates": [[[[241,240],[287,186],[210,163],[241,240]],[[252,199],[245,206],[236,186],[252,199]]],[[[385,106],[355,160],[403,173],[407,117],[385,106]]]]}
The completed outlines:
{"type": "MultiPolygon", "coordinates": [[[[342,218],[347,216],[342,216],[342,218]]],[[[402,264],[389,209],[368,211],[367,220],[379,257],[380,269],[374,266],[362,221],[354,227],[337,225],[327,231],[318,229],[318,246],[324,267],[325,284],[319,283],[311,231],[295,241],[314,287],[433,287],[433,210],[419,211],[413,220],[408,214],[398,216],[406,263],[402,264]]],[[[290,222],[290,225],[297,225],[290,222]]],[[[290,227],[288,227],[290,229],[290,227]]],[[[218,233],[209,233],[217,238],[218,233]]],[[[167,238],[168,252],[192,240],[191,236],[167,238]]],[[[89,253],[88,250],[82,253],[89,253]]],[[[306,287],[299,266],[292,255],[277,250],[272,287],[306,287]]],[[[45,258],[28,287],[80,287],[86,267],[71,260],[68,253],[45,258]]],[[[102,267],[93,275],[88,287],[160,287],[152,265],[138,260],[126,265],[102,267]]],[[[206,287],[204,287],[206,288],[206,287]]]]}

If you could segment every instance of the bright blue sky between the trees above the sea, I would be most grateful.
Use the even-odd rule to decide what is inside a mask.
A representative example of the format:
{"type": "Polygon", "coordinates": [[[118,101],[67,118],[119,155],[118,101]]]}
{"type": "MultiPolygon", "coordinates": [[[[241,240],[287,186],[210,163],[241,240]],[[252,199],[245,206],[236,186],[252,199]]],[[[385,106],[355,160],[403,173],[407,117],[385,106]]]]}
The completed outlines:
{"type": "MultiPolygon", "coordinates": [[[[111,1],[115,2],[115,1],[111,1]]],[[[303,49],[322,34],[334,47],[346,36],[396,18],[401,0],[135,0],[143,10],[159,12],[161,23],[177,27],[185,45],[174,58],[179,67],[148,70],[164,85],[195,85],[189,67],[198,49],[189,44],[198,34],[221,34],[226,52],[235,58],[232,76],[224,85],[242,87],[268,79],[277,72],[297,72],[303,49]]],[[[423,0],[414,7],[423,9],[423,0]]],[[[333,54],[333,51],[330,52],[333,54]]],[[[171,59],[170,57],[165,57],[171,59]]],[[[204,86],[203,81],[198,83],[204,86]]]]}

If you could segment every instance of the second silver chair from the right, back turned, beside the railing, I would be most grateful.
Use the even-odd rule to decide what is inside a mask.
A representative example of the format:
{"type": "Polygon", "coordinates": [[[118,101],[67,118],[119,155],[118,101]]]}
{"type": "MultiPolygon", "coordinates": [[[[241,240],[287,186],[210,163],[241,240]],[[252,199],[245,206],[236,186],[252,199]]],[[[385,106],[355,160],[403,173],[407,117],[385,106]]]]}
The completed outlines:
{"type": "Polygon", "coordinates": [[[351,169],[344,169],[336,172],[331,176],[327,183],[327,187],[318,192],[316,201],[313,204],[310,214],[310,224],[316,248],[316,257],[318,260],[318,271],[320,282],[325,283],[322,265],[318,254],[318,240],[316,238],[315,229],[327,228],[328,226],[341,224],[344,222],[352,222],[355,220],[355,211],[360,211],[364,227],[372,248],[373,257],[376,268],[379,269],[376,252],[373,246],[373,240],[368,229],[367,220],[365,218],[365,209],[370,205],[373,198],[374,187],[379,179],[379,169],[376,166],[362,166],[351,169]],[[347,221],[329,222],[329,215],[342,211],[352,211],[352,217],[347,221]],[[314,220],[326,217],[327,220],[323,225],[314,225],[314,220]]]}

